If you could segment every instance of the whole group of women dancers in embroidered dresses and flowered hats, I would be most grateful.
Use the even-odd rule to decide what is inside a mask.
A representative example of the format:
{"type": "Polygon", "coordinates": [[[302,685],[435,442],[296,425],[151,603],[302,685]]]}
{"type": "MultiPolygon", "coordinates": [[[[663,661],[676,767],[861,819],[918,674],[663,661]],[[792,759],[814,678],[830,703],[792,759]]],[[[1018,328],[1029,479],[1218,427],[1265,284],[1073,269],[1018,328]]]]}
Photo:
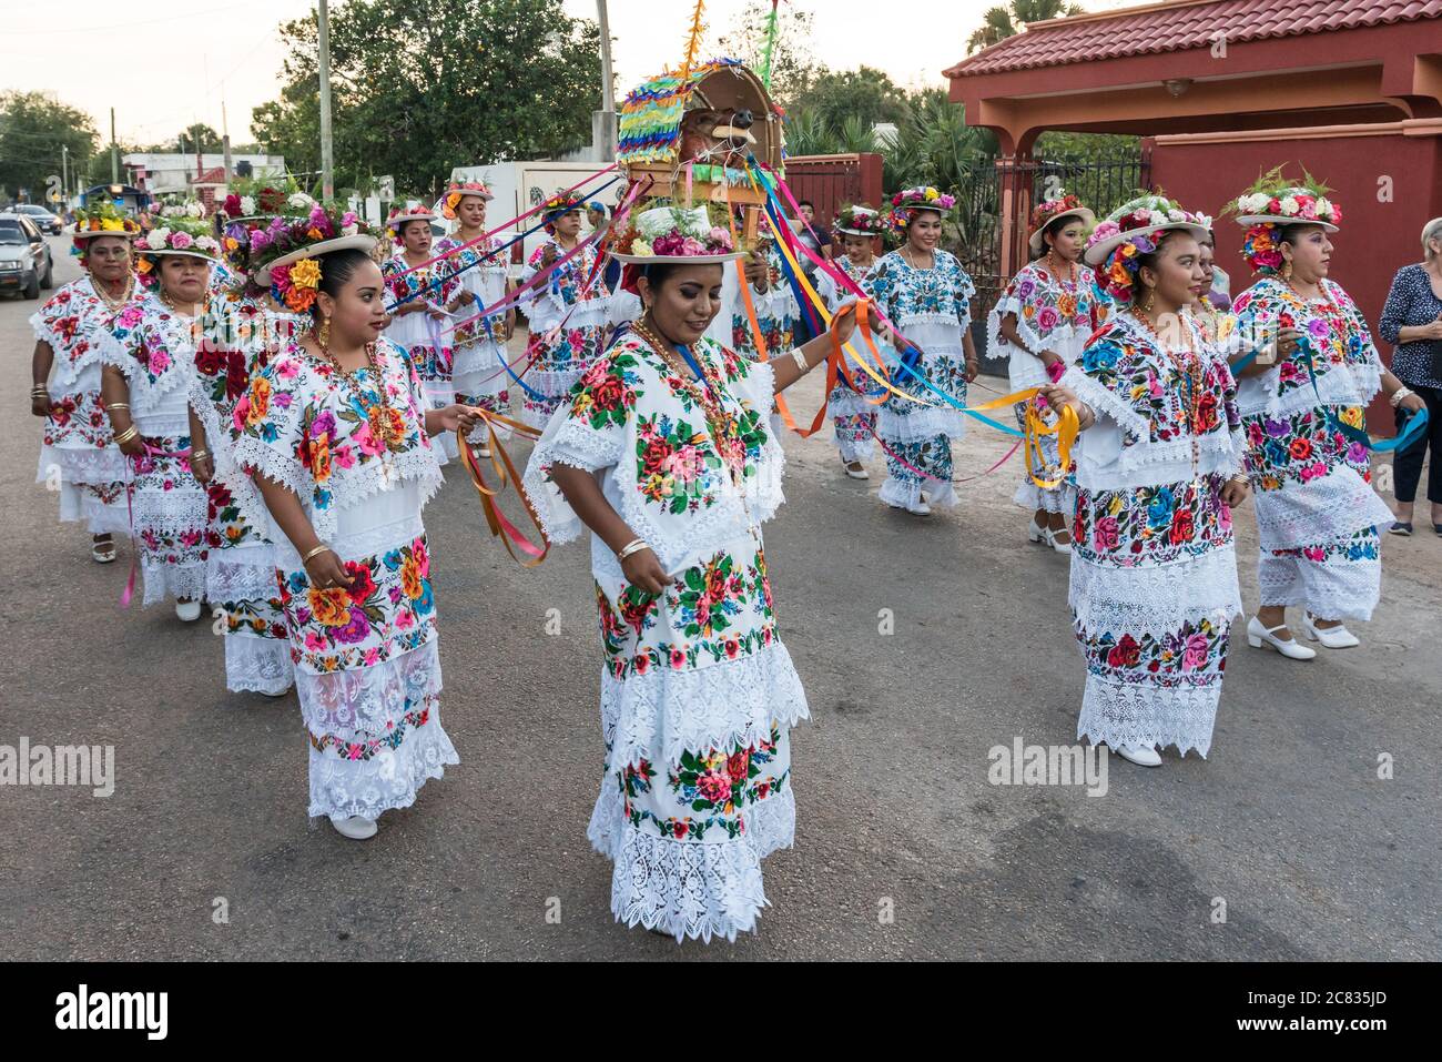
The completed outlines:
{"type": "MultiPolygon", "coordinates": [[[[789,733],[808,717],[761,534],[782,502],[774,398],[859,338],[865,300],[888,368],[848,361],[829,394],[845,472],[865,479],[880,447],[881,502],[921,518],[957,502],[978,355],[976,289],[940,247],[955,203],[913,188],[845,208],[842,254],[815,273],[829,323],[797,343],[816,307],[787,283],[795,234],[763,221],[747,241],[724,206],[646,202],[593,211],[598,242],[561,195],[512,278],[490,201],[454,183],[394,214],[388,241],[294,189],[149,231],[81,212],[85,273],[32,319],[40,479],[59,470],[61,517],[98,563],[133,540],[144,605],[224,618],[226,688],[296,687],[309,812],[365,840],[459,762],[423,509],[459,447],[489,456],[515,416],[538,436],[523,485],[548,541],[593,532],[606,775],[588,837],[613,860],[613,910],[734,939],[767,903],[761,859],[792,844],[789,733]],[[454,228],[433,242],[440,221],[454,228]]],[[[1249,495],[1249,644],[1314,658],[1288,626],[1301,607],[1311,642],[1357,645],[1344,623],[1377,605],[1392,524],[1363,410],[1379,391],[1423,408],[1328,278],[1325,192],[1272,173],[1231,212],[1259,280],[1230,306],[1210,218],[1146,195],[1097,222],[1063,196],[1034,212],[1034,260],[988,316],[1037,447],[1015,495],[1027,535],[1070,554],[1077,734],[1148,766],[1210,749],[1249,495]]]]}

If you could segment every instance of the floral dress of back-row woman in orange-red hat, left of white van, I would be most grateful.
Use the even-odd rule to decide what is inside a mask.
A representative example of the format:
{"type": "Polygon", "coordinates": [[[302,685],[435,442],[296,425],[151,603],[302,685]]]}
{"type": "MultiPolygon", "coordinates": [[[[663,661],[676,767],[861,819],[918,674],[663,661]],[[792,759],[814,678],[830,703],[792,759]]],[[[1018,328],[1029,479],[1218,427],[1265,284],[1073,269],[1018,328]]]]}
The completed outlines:
{"type": "MultiPolygon", "coordinates": [[[[447,237],[435,244],[435,254],[446,254],[460,245],[460,240],[447,237]]],[[[476,296],[474,303],[461,306],[456,312],[457,320],[472,317],[480,313],[482,307],[505,297],[506,257],[499,248],[500,241],[492,237],[447,258],[456,274],[456,283],[476,296]]],[[[502,338],[505,323],[506,313],[502,310],[461,325],[451,333],[450,342],[456,352],[451,375],[456,384],[456,401],[463,405],[510,413],[510,392],[506,390],[509,377],[505,369],[506,342],[502,338]]],[[[473,437],[476,442],[485,440],[486,429],[477,426],[473,437]]]]}

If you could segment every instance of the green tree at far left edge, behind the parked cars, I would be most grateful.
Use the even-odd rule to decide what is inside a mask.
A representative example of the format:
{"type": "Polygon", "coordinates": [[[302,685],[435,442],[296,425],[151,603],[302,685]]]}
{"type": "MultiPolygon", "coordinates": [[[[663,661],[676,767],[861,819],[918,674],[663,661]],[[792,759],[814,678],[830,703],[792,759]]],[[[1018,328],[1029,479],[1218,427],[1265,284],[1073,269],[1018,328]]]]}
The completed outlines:
{"type": "Polygon", "coordinates": [[[74,173],[84,172],[98,141],[89,115],[49,92],[0,94],[0,192],[9,198],[25,189],[30,202],[45,202],[46,192],[59,188],[62,146],[74,186],[74,173]]]}

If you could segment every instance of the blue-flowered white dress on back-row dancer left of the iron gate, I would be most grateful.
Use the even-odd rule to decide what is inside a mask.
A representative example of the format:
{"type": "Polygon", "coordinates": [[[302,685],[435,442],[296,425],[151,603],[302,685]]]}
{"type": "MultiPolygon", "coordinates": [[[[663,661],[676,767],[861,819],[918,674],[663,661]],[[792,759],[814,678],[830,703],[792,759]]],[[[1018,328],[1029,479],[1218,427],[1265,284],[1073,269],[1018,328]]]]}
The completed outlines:
{"type": "MultiPolygon", "coordinates": [[[[976,286],[950,251],[933,251],[929,270],[916,268],[900,251],[883,255],[865,283],[877,306],[921,349],[916,372],[932,387],[966,404],[966,354],[962,336],[972,323],[976,286]]],[[[881,404],[877,436],[887,444],[887,480],[878,496],[891,506],[916,505],[921,491],[940,505],[956,504],[952,486],[952,440],[965,433],[965,414],[900,368],[898,391],[924,398],[921,405],[898,395],[881,404]],[[910,466],[910,468],[908,468],[910,466]]]]}

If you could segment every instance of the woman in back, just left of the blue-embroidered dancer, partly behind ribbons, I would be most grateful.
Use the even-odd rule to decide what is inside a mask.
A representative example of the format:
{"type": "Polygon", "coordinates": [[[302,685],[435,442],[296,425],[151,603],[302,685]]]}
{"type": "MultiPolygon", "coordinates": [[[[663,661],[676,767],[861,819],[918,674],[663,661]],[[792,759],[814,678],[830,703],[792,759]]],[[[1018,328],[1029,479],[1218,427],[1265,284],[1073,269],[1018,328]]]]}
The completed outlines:
{"type": "MultiPolygon", "coordinates": [[[[870,206],[842,206],[836,214],[836,231],[841,234],[841,245],[845,254],[832,258],[831,264],[841,270],[857,286],[865,283],[867,274],[877,264],[877,240],[885,234],[885,222],[881,215],[870,206]]],[[[816,284],[816,294],[826,300],[828,309],[835,313],[841,306],[855,302],[857,296],[842,287],[829,273],[820,273],[816,284]]],[[[828,397],[831,405],[831,423],[835,431],[836,449],[841,450],[841,463],[846,475],[852,479],[871,479],[862,462],[870,460],[875,449],[877,410],[880,403],[872,401],[881,395],[877,382],[855,362],[844,362],[851,374],[852,382],[859,391],[846,382],[845,377],[836,381],[828,397]]]]}

